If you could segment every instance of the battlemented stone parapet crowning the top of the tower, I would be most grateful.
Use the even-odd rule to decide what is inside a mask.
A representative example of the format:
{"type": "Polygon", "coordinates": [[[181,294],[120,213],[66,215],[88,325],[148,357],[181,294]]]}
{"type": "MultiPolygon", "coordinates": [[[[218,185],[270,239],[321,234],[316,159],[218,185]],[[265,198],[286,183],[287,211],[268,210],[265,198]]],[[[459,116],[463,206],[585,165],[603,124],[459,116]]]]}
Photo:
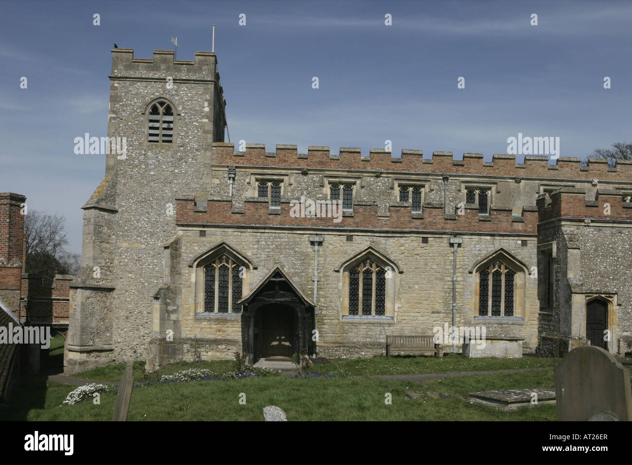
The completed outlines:
{"type": "Polygon", "coordinates": [[[212,52],[195,52],[194,61],[174,61],[173,50],[154,50],[153,59],[134,58],[134,49],[112,49],[110,78],[166,80],[167,77],[195,82],[217,82],[217,56],[212,52]]]}

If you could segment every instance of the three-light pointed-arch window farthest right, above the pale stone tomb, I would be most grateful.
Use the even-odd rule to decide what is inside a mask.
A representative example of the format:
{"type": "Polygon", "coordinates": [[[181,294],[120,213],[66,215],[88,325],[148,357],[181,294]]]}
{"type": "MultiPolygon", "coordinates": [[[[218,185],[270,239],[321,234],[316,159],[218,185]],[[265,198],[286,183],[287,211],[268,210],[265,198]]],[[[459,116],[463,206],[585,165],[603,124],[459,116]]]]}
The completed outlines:
{"type": "Polygon", "coordinates": [[[478,279],[478,315],[513,317],[516,272],[498,261],[480,270],[478,279]]]}

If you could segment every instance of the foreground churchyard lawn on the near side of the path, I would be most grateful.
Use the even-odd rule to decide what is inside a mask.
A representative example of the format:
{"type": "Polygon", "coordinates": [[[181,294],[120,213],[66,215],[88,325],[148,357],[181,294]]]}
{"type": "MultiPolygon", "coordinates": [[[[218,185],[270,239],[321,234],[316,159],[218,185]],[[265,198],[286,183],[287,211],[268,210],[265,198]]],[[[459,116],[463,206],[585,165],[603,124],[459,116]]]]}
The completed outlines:
{"type": "MultiPolygon", "coordinates": [[[[263,420],[263,408],[276,405],[288,420],[556,420],[555,406],[535,406],[515,412],[469,404],[464,399],[413,401],[406,390],[449,390],[471,392],[480,389],[510,389],[549,385],[550,370],[504,373],[436,380],[420,385],[400,380],[372,378],[244,378],[228,381],[173,383],[134,389],[128,420],[263,420]],[[509,376],[511,375],[511,376],[509,376]],[[505,378],[506,377],[506,378],[505,378]],[[521,378],[522,377],[522,378],[521,378]],[[525,385],[526,383],[526,385],[525,385]],[[476,387],[476,389],[473,389],[476,387]],[[480,387],[480,389],[478,389],[480,387]],[[239,403],[240,393],[246,404],[239,403]],[[385,394],[392,404],[385,404],[385,394]]],[[[26,380],[23,380],[26,381],[26,380]]],[[[60,406],[73,387],[58,383],[36,383],[37,402],[33,405],[33,380],[18,390],[10,420],[112,420],[116,395],[101,394],[100,404],[90,399],[74,406],[60,406]]]]}

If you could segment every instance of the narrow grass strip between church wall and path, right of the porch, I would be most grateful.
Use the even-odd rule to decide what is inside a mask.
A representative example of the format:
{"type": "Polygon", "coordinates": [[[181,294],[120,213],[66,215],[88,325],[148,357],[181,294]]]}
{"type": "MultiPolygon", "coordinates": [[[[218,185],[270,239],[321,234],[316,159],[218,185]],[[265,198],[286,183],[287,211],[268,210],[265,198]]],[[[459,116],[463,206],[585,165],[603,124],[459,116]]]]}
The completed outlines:
{"type": "Polygon", "coordinates": [[[446,357],[386,356],[373,358],[335,359],[333,363],[314,365],[315,373],[347,373],[348,375],[411,375],[449,373],[454,371],[519,370],[542,368],[561,363],[561,358],[466,358],[459,354],[446,357]]]}

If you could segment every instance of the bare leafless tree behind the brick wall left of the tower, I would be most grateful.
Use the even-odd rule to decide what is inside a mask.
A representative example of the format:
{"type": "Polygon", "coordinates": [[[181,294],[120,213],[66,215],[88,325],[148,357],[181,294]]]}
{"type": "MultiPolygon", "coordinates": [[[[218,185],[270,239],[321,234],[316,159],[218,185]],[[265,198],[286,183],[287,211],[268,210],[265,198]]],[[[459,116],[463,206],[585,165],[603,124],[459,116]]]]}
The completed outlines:
{"type": "Polygon", "coordinates": [[[59,257],[68,244],[64,232],[66,218],[49,215],[39,210],[30,210],[24,218],[26,233],[27,273],[43,274],[52,277],[56,270],[67,273],[59,257]]]}

